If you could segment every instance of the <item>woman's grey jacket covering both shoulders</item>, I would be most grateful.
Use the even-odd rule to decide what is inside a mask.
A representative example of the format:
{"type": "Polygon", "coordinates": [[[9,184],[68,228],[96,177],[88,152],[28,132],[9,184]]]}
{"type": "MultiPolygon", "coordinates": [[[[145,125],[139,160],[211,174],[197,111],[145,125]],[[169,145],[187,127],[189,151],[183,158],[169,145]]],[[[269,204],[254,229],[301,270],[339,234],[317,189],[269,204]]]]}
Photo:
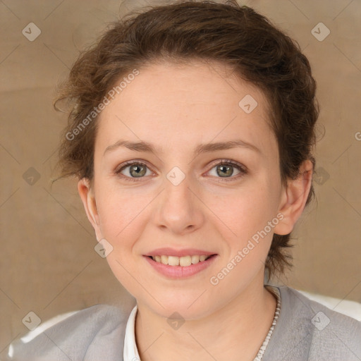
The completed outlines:
{"type": "MultiPolygon", "coordinates": [[[[298,290],[277,287],[281,312],[262,361],[361,360],[361,322],[306,298],[298,290]]],[[[13,356],[4,360],[122,361],[128,317],[128,312],[113,306],[89,307],[29,343],[14,342],[13,356]]]]}

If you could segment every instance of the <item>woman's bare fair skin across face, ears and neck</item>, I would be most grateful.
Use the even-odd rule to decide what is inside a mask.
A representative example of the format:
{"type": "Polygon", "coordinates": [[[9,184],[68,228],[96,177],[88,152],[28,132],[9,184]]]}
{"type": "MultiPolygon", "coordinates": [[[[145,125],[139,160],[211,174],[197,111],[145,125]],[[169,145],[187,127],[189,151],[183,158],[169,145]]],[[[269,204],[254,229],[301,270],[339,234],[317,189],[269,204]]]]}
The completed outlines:
{"type": "Polygon", "coordinates": [[[264,262],[273,233],[290,233],[302,214],[312,163],[305,161],[300,177],[281,185],[267,99],[227,70],[200,61],[140,69],[98,119],[92,187],[87,179],[78,183],[97,240],[114,247],[107,257],[111,270],[137,300],[142,361],[253,360],[274,317],[276,299],[264,288],[264,262]],[[238,106],[246,94],[258,103],[250,114],[238,106]],[[159,152],[117,147],[104,154],[120,139],[151,142],[159,152]],[[193,157],[201,143],[235,139],[259,152],[236,147],[193,157]],[[247,167],[247,173],[238,176],[233,168],[231,176],[219,175],[217,164],[224,159],[247,167]],[[115,173],[133,160],[147,164],[145,176],[135,178],[129,166],[115,173]],[[178,185],[166,178],[174,166],[185,175],[178,185]],[[209,279],[280,212],[282,221],[212,285],[209,279]],[[169,279],[142,256],[158,247],[194,247],[217,258],[188,279],[169,279]],[[167,322],[173,312],[185,319],[177,330],[167,322]]]}

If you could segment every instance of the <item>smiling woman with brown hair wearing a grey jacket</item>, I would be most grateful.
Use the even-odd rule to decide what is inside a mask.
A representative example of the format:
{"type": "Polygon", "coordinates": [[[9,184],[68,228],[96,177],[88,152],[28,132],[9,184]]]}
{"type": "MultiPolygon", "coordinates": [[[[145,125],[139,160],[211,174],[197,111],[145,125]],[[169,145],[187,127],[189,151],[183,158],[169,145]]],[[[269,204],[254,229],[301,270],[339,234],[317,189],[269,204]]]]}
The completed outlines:
{"type": "Polygon", "coordinates": [[[310,64],[235,1],[117,22],[83,52],[61,176],[137,305],[98,305],[11,346],[11,360],[360,360],[361,324],[264,283],[312,199],[310,64]]]}

